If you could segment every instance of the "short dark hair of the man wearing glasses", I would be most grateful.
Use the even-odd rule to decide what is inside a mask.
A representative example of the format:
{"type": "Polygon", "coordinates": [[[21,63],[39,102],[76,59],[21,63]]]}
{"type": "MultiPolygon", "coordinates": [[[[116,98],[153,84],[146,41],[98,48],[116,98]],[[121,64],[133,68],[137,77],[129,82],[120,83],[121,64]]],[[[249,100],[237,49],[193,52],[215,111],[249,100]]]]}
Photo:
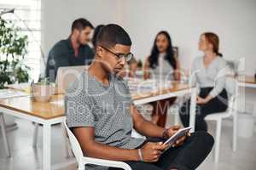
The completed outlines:
{"type": "Polygon", "coordinates": [[[113,48],[116,44],[131,46],[131,38],[121,26],[110,24],[103,26],[96,36],[96,46],[113,48]]]}

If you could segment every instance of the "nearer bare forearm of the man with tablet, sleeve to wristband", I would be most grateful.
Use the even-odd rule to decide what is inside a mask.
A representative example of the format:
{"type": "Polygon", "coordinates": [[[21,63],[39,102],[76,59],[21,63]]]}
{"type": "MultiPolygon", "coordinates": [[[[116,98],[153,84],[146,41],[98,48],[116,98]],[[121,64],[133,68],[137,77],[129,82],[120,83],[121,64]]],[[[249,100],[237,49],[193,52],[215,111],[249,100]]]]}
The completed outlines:
{"type": "Polygon", "coordinates": [[[139,161],[137,150],[125,150],[95,141],[94,127],[73,127],[84,155],[113,161],[139,161]]]}

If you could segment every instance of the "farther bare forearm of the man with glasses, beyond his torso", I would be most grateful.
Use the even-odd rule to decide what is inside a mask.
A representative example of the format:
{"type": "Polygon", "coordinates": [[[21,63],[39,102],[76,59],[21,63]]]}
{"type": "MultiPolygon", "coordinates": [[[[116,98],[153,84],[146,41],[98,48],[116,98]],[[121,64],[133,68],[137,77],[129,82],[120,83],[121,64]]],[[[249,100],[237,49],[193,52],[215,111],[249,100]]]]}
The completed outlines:
{"type": "Polygon", "coordinates": [[[137,111],[135,105],[130,106],[133,124],[138,133],[148,137],[163,137],[165,129],[149,122],[137,111]]]}

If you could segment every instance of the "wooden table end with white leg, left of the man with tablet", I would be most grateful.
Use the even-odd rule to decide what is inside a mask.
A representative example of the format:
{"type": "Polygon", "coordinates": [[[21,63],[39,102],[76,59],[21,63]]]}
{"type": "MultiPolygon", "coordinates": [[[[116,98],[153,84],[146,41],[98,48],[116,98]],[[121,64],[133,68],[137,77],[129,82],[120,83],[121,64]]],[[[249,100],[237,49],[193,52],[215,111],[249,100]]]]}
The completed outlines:
{"type": "MultiPolygon", "coordinates": [[[[56,95],[52,100],[62,99],[63,95],[56,95]]],[[[63,106],[35,102],[30,97],[16,97],[0,99],[0,112],[43,125],[43,169],[49,170],[51,126],[63,122],[65,117],[63,106]]]]}

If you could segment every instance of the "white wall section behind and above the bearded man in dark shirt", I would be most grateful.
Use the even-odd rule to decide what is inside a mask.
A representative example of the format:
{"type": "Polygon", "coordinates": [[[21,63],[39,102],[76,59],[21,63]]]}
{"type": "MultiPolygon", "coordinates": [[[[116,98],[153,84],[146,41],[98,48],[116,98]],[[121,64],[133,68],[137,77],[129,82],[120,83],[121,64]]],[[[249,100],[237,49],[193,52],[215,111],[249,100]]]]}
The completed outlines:
{"type": "Polygon", "coordinates": [[[97,26],[119,23],[119,0],[42,0],[42,46],[48,55],[55,42],[66,39],[73,20],[84,17],[97,26]]]}

